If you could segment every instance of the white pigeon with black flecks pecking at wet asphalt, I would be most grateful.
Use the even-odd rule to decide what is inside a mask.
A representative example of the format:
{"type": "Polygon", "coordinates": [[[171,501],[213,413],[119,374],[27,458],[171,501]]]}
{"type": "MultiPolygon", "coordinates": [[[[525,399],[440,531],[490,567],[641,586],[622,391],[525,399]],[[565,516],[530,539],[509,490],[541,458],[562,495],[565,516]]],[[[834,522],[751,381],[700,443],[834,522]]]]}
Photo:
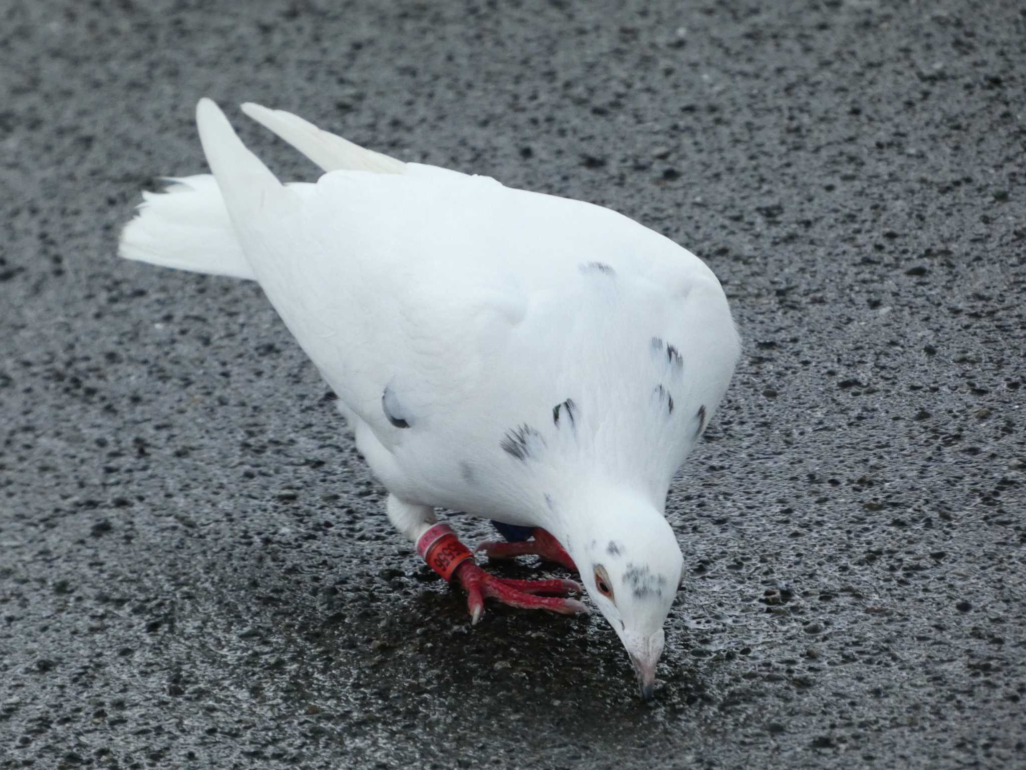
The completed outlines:
{"type": "Polygon", "coordinates": [[[489,557],[578,569],[652,697],[683,580],[667,491],[740,352],[719,281],[608,208],[242,110],[325,174],[282,185],[200,100],[213,176],[144,193],[120,255],[259,281],[338,394],[389,518],[468,591],[473,622],[485,598],[586,608],[565,598],[575,581],[484,572],[435,507],[494,519],[511,542],[483,543],[489,557]]]}

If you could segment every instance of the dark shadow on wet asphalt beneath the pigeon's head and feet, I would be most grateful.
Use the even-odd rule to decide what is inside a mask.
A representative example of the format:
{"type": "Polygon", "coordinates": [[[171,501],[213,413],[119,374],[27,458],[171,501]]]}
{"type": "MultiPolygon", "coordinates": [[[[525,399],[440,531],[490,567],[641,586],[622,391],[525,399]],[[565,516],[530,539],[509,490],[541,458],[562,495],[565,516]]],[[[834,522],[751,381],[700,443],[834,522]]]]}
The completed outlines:
{"type": "MultiPolygon", "coordinates": [[[[495,571],[521,578],[543,572],[523,565],[495,571]]],[[[360,631],[340,628],[338,643],[351,642],[354,633],[360,631]]],[[[684,651],[667,651],[657,700],[642,703],[620,641],[600,615],[564,617],[489,604],[472,627],[463,593],[438,581],[421,584],[401,608],[391,607],[374,623],[374,634],[370,646],[380,656],[359,678],[368,697],[430,694],[451,703],[449,713],[459,719],[503,724],[522,730],[525,739],[560,727],[590,741],[640,738],[646,726],[712,700],[702,667],[684,651]],[[613,722],[624,734],[610,734],[613,722]]]]}

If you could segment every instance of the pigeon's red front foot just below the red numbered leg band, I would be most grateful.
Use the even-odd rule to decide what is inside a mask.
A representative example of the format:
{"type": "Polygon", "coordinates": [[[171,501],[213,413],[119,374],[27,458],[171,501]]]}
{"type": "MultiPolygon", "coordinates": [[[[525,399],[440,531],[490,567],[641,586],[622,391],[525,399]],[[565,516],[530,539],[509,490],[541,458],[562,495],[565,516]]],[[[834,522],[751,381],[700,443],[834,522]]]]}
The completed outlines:
{"type": "MultiPolygon", "coordinates": [[[[573,564],[573,563],[571,563],[573,564]]],[[[453,573],[453,579],[467,591],[467,609],[470,610],[471,624],[484,614],[484,600],[495,599],[510,607],[521,610],[548,610],[560,615],[588,613],[588,607],[576,599],[566,599],[568,593],[581,593],[581,585],[575,580],[511,580],[489,575],[472,561],[463,562],[453,573]]]]}

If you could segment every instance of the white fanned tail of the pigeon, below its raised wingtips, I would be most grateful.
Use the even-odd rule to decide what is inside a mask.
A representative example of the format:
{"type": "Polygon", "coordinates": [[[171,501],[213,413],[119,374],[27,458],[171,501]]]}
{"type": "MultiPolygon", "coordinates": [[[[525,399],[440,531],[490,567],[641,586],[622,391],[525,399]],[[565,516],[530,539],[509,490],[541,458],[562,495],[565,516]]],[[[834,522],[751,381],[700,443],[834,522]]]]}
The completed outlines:
{"type": "Polygon", "coordinates": [[[143,193],[139,214],[121,231],[118,254],[179,270],[254,278],[213,177],[166,181],[170,186],[162,192],[143,193]]]}

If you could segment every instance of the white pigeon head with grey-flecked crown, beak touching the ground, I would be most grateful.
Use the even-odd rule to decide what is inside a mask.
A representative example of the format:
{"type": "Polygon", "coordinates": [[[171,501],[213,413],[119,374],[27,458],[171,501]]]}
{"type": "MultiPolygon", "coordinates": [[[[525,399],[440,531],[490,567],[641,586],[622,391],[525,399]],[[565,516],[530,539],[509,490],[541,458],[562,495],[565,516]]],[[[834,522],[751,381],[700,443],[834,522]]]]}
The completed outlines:
{"type": "Polygon", "coordinates": [[[616,496],[592,507],[569,553],[592,601],[620,637],[642,699],[656,689],[663,625],[683,574],[683,556],[662,511],[616,496]]]}

